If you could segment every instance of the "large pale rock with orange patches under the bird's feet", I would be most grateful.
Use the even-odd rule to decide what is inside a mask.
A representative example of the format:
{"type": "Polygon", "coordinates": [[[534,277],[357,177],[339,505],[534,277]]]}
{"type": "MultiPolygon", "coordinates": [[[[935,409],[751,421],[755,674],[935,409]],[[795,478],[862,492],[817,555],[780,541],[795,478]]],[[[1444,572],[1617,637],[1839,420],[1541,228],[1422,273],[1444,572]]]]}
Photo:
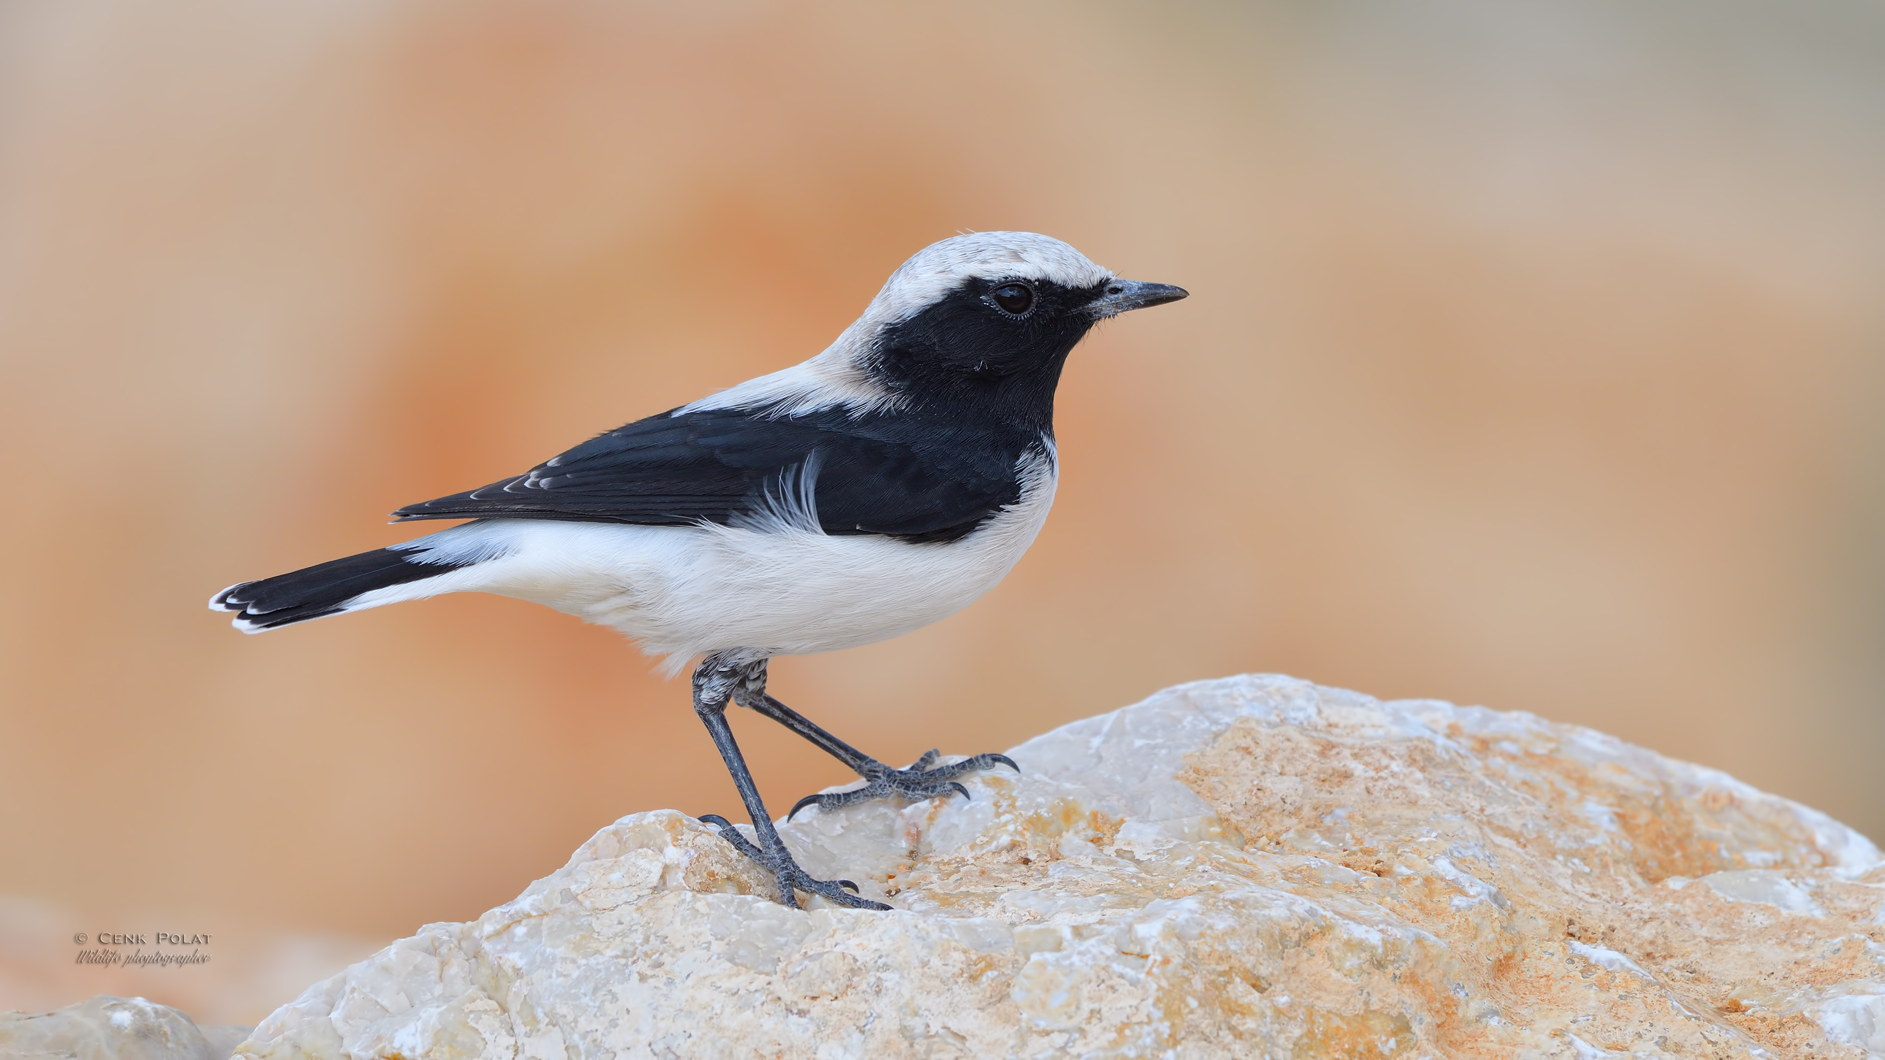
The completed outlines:
{"type": "Polygon", "coordinates": [[[893,913],[786,909],[637,813],[238,1054],[1885,1056],[1879,853],[1725,773],[1286,677],[1010,754],[786,828],[893,913]]]}

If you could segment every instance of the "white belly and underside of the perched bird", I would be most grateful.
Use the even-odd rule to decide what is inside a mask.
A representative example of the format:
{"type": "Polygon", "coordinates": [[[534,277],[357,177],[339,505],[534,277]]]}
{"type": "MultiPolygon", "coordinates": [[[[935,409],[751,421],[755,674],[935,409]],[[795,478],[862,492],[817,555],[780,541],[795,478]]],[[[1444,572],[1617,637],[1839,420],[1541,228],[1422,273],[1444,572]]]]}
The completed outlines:
{"type": "Polygon", "coordinates": [[[912,545],[756,526],[622,526],[492,519],[422,539],[439,558],[492,556],[369,592],[358,605],[498,592],[613,626],[677,671],[709,651],[807,654],[907,634],[954,615],[1008,573],[1054,504],[1052,455],[1024,468],[1020,500],[980,530],[912,545]],[[385,594],[385,600],[375,596],[385,594]]]}

